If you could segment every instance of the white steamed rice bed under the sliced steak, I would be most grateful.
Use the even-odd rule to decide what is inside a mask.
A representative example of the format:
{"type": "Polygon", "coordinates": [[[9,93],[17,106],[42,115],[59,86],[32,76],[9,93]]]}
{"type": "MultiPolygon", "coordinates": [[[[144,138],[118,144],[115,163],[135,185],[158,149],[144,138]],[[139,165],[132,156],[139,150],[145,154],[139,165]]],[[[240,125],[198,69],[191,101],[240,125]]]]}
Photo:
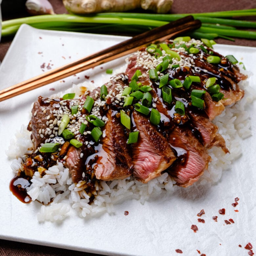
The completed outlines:
{"type": "MultiPolygon", "coordinates": [[[[225,108],[224,112],[214,119],[214,123],[219,127],[219,133],[226,141],[226,146],[230,154],[224,154],[221,148],[213,147],[208,150],[212,161],[208,171],[205,171],[199,179],[199,183],[213,184],[220,180],[222,172],[230,167],[233,160],[241,156],[240,142],[251,135],[249,115],[246,108],[255,98],[254,90],[248,86],[247,81],[240,82],[241,89],[245,90],[245,97],[233,106],[225,108]],[[239,135],[239,137],[237,136],[239,135]]],[[[77,94],[80,85],[71,89],[77,94]]],[[[90,84],[85,82],[82,86],[90,88],[90,84]]],[[[11,142],[7,155],[13,159],[11,168],[13,172],[22,170],[23,156],[31,153],[32,148],[30,132],[25,126],[16,135],[15,141],[11,142]]],[[[35,172],[32,178],[32,185],[28,189],[28,194],[32,201],[43,203],[37,215],[38,221],[62,221],[69,216],[71,211],[76,211],[78,216],[93,216],[100,212],[115,212],[115,204],[125,200],[139,200],[144,203],[152,196],[159,196],[164,190],[167,193],[175,193],[177,186],[167,173],[149,181],[147,184],[136,181],[132,176],[124,180],[100,181],[98,195],[94,202],[89,204],[89,196],[85,193],[80,183],[74,184],[69,174],[69,170],[64,168],[62,163],[50,167],[46,174],[41,177],[35,172]],[[49,205],[44,205],[48,204],[49,205]]]]}

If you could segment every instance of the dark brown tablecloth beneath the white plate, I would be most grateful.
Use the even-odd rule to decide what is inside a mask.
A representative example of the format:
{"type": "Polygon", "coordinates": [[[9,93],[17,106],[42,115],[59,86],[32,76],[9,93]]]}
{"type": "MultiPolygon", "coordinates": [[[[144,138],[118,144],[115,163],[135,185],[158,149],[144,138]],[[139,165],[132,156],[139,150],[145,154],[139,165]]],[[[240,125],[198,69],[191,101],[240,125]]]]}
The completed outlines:
{"type": "MultiPolygon", "coordinates": [[[[9,0],[3,0],[7,2],[9,0]]],[[[24,1],[25,2],[25,1],[24,1]]],[[[61,0],[49,0],[53,5],[55,13],[67,13],[61,0]]],[[[196,13],[196,12],[210,12],[210,11],[228,11],[239,9],[256,8],[256,1],[254,0],[174,0],[172,11],[173,13],[196,13]]],[[[18,10],[17,12],[10,13],[5,10],[2,13],[3,19],[17,18],[26,16],[24,11],[18,10]]],[[[246,18],[246,20],[254,20],[255,17],[246,18]]],[[[255,30],[254,30],[255,31],[255,30]]],[[[125,35],[125,33],[124,33],[125,35]]],[[[12,38],[2,38],[0,43],[0,61],[3,60],[8,48],[11,44],[12,38]]],[[[235,42],[225,39],[217,39],[216,42],[233,45],[254,46],[256,47],[256,40],[236,39],[235,42]]],[[[0,227],[1,228],[1,227],[0,227]]],[[[60,255],[96,255],[92,253],[82,253],[78,251],[71,251],[59,248],[51,248],[41,245],[30,245],[18,242],[0,240],[0,255],[1,256],[60,256],[60,255]]]]}

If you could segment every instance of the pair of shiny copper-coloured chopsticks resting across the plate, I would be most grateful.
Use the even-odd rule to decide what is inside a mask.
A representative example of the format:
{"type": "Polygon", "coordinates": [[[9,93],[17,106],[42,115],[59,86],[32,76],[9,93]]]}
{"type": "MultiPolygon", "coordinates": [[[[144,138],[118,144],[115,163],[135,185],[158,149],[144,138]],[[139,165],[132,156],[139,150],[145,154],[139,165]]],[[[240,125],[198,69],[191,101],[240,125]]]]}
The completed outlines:
{"type": "Polygon", "coordinates": [[[200,28],[201,22],[192,16],[170,22],[164,26],[136,35],[131,39],[88,55],[59,68],[37,75],[0,91],[0,101],[31,91],[43,85],[74,75],[97,65],[133,53],[143,46],[170,39],[178,34],[200,28]]]}

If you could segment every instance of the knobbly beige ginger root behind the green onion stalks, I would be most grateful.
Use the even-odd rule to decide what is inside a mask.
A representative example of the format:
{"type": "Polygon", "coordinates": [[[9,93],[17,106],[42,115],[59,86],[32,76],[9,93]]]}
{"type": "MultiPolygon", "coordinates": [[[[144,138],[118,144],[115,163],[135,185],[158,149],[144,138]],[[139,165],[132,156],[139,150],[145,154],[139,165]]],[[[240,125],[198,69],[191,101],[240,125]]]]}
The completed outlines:
{"type": "Polygon", "coordinates": [[[123,12],[137,8],[167,13],[173,0],[63,0],[65,8],[76,14],[98,12],[123,12]]]}

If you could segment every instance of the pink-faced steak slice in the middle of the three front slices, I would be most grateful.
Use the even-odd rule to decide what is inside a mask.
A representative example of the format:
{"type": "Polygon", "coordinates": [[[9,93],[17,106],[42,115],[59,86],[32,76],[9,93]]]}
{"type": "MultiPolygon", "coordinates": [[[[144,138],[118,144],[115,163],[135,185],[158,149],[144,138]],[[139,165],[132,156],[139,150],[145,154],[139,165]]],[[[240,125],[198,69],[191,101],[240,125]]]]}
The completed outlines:
{"type": "Polygon", "coordinates": [[[148,118],[133,112],[134,123],[139,131],[138,142],[133,145],[133,175],[141,182],[148,182],[166,170],[176,159],[168,141],[157,131],[148,118]]]}

